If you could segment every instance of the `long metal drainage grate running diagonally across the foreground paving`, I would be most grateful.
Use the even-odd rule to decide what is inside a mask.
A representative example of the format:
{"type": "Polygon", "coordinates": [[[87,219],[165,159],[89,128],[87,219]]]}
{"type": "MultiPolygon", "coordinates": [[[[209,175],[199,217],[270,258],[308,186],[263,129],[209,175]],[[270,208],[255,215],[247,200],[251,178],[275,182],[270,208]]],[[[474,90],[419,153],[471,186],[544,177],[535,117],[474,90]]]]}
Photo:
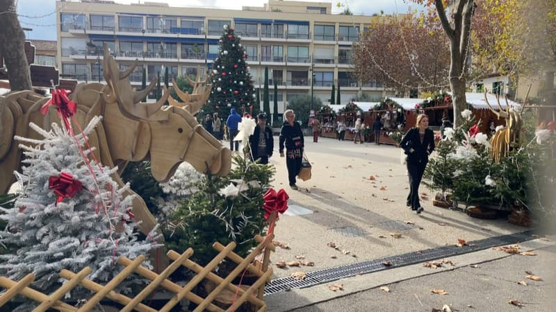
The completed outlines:
{"type": "Polygon", "coordinates": [[[335,281],[345,277],[352,277],[359,274],[366,274],[370,272],[377,272],[379,270],[386,270],[389,268],[396,268],[400,266],[409,266],[415,263],[422,263],[434,259],[441,259],[445,257],[453,257],[459,254],[466,254],[468,252],[476,252],[500,245],[509,245],[519,243],[521,241],[529,241],[532,231],[526,231],[516,234],[508,234],[488,239],[481,239],[479,241],[469,242],[468,246],[457,247],[456,245],[448,245],[439,248],[431,248],[421,252],[408,252],[406,254],[399,254],[396,256],[384,257],[376,260],[362,261],[358,263],[351,263],[345,266],[336,266],[334,268],[325,268],[315,272],[307,272],[306,278],[302,280],[294,279],[293,277],[281,277],[279,279],[272,279],[270,283],[265,286],[265,295],[272,295],[280,291],[288,291],[291,288],[305,288],[313,285],[335,281]],[[392,266],[384,266],[382,262],[391,261],[392,266]]]}

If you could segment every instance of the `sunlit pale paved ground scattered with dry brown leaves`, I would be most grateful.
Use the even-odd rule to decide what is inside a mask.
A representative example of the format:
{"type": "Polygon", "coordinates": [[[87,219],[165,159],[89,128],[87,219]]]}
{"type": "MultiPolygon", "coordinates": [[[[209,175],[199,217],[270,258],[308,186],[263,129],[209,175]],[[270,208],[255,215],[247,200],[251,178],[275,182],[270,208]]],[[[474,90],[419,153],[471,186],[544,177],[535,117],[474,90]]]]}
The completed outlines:
{"type": "MultiPolygon", "coordinates": [[[[475,241],[528,230],[507,223],[506,218],[480,220],[470,218],[461,211],[433,207],[430,198],[434,197],[434,193],[425,187],[420,193],[426,193],[429,200],[422,200],[425,211],[417,215],[405,207],[407,175],[400,164],[399,148],[325,138],[319,138],[318,143],[313,143],[310,137],[305,139],[306,153],[313,164],[313,177],[309,181],[297,183],[300,191],[288,187],[284,158],[278,157],[276,152],[270,159],[277,168],[275,188],[286,189],[292,211],[302,211],[300,208],[304,208],[312,212],[280,216],[275,241],[288,245],[289,249],[277,248],[271,259],[275,264],[302,258],[301,261],[311,261],[314,266],[284,269],[272,266],[275,278],[287,277],[293,272],[313,272],[347,263],[453,245],[458,239],[475,241]],[[401,237],[391,235],[396,233],[401,234],[401,237]],[[338,248],[330,248],[330,242],[338,248]]],[[[534,242],[537,245],[533,244],[531,249],[552,245],[546,241],[534,242]]],[[[268,311],[295,311],[307,305],[310,307],[298,311],[431,311],[432,308],[441,309],[443,304],[450,303],[459,311],[473,309],[468,304],[477,307],[470,311],[506,311],[516,308],[507,304],[514,298],[530,302],[525,304],[524,309],[527,311],[548,311],[543,308],[553,303],[547,300],[546,294],[554,290],[553,284],[550,284],[554,282],[554,275],[553,271],[547,272],[546,268],[550,267],[548,261],[554,259],[553,252],[554,249],[549,248],[540,250],[538,256],[513,256],[493,261],[506,254],[484,250],[459,256],[461,259],[456,257],[459,263],[468,265],[486,261],[480,265],[480,270],[458,264],[450,272],[430,275],[432,269],[417,264],[352,278],[357,281],[354,284],[363,280],[374,281],[370,285],[345,286],[344,291],[333,292],[327,285],[335,283],[328,283],[268,295],[265,301],[269,304],[268,311]],[[521,280],[525,276],[522,274],[526,269],[525,263],[531,263],[530,268],[534,273],[544,274],[546,282],[532,281],[533,286],[513,285],[514,279],[521,280]],[[423,269],[425,272],[422,272],[423,269]],[[420,277],[422,275],[427,276],[420,277]],[[377,289],[384,284],[391,287],[391,293],[377,289]],[[506,284],[507,287],[504,286],[506,284]],[[548,288],[543,289],[537,284],[548,285],[548,288]],[[450,295],[433,295],[430,288],[444,288],[450,295]],[[519,291],[522,289],[534,295],[521,296],[519,291]],[[536,290],[539,290],[538,293],[536,290]],[[358,293],[361,291],[363,293],[358,293]],[[484,299],[484,294],[489,299],[484,299]],[[332,300],[345,295],[348,296],[332,300]],[[490,302],[503,304],[494,305],[498,308],[491,309],[490,302]]],[[[338,283],[347,284],[343,281],[338,283]]]]}

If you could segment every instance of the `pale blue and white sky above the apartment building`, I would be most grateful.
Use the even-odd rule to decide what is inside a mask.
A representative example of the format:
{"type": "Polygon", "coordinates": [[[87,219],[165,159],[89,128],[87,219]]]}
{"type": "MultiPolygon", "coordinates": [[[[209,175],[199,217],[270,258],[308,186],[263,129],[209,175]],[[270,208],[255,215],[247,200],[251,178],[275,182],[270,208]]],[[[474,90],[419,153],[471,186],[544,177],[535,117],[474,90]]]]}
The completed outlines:
{"type": "MultiPolygon", "coordinates": [[[[355,15],[373,15],[384,11],[385,14],[405,13],[409,4],[404,0],[305,0],[309,2],[332,3],[332,13],[343,12],[350,8],[355,15]],[[336,6],[341,3],[341,7],[336,6]]],[[[56,1],[55,0],[15,0],[17,14],[28,39],[56,40],[56,1]]],[[[116,3],[138,3],[138,0],[115,0],[116,3]]],[[[144,0],[140,1],[145,2],[144,0]]],[[[267,0],[148,0],[148,2],[163,2],[169,6],[197,6],[204,8],[231,8],[240,10],[242,6],[263,6],[267,0]],[[184,3],[187,3],[186,5],[184,3]],[[236,4],[237,3],[237,4],[236,4]]],[[[416,5],[414,4],[414,7],[416,5]]]]}

